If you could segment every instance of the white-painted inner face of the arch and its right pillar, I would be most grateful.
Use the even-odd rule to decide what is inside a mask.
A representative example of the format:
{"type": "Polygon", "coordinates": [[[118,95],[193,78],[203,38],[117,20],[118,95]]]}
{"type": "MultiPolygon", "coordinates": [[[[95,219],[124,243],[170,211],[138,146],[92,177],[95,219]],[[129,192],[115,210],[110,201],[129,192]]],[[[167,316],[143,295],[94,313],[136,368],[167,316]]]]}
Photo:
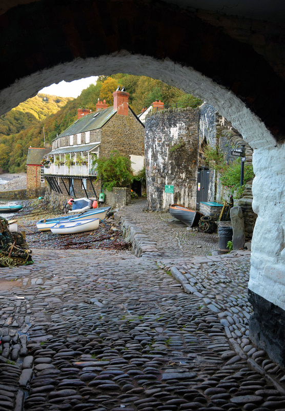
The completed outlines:
{"type": "Polygon", "coordinates": [[[76,59],[16,80],[0,92],[0,115],[62,80],[106,76],[118,72],[160,79],[212,104],[254,148],[254,211],[258,214],[252,241],[249,287],[281,308],[284,307],[284,163],[285,144],[277,144],[264,124],[231,91],[191,67],[123,50],[99,58],[76,59]]]}

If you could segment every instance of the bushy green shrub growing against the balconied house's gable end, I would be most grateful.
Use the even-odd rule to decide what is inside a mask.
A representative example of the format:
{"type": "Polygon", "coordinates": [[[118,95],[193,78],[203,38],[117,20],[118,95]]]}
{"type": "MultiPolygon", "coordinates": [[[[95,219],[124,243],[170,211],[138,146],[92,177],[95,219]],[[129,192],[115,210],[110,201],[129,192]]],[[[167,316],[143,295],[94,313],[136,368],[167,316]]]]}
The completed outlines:
{"type": "Polygon", "coordinates": [[[122,156],[117,150],[112,151],[109,158],[94,159],[92,167],[96,167],[98,176],[107,191],[112,191],[113,187],[129,187],[133,182],[131,160],[122,156]]]}

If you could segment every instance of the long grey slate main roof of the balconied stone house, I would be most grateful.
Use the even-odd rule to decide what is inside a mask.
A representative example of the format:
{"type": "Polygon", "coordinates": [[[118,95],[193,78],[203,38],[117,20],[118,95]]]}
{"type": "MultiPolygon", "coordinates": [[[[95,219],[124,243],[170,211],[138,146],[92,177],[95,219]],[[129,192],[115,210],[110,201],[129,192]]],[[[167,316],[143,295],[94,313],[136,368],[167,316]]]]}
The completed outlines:
{"type": "Polygon", "coordinates": [[[105,110],[94,111],[93,113],[86,114],[82,118],[76,120],[54,140],[57,140],[59,137],[72,136],[77,133],[89,132],[90,130],[101,128],[116,112],[117,111],[113,109],[113,106],[111,106],[105,108],[105,110]]]}

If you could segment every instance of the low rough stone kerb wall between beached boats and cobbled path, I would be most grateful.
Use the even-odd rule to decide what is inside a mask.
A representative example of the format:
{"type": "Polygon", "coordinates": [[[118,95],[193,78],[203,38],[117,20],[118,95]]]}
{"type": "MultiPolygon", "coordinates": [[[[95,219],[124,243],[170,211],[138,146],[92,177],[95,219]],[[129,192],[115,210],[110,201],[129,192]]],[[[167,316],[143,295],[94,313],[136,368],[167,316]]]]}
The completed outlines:
{"type": "Polygon", "coordinates": [[[131,220],[114,214],[115,220],[120,223],[121,231],[126,242],[131,243],[131,251],[137,257],[152,256],[161,257],[157,248],[156,242],[151,241],[147,234],[142,231],[131,220]]]}

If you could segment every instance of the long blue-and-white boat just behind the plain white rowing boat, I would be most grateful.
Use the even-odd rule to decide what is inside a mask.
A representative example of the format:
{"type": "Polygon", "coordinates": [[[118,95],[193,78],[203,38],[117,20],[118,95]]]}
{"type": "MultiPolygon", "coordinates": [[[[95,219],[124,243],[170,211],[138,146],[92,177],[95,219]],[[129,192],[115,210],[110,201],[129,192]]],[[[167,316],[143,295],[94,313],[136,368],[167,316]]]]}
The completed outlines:
{"type": "Polygon", "coordinates": [[[50,231],[51,227],[55,225],[55,223],[60,221],[67,221],[67,220],[84,220],[87,218],[99,218],[100,220],[104,220],[108,211],[111,210],[111,207],[101,207],[99,209],[91,209],[87,210],[84,213],[80,214],[71,214],[66,215],[63,217],[54,217],[54,218],[47,218],[38,220],[36,222],[36,226],[39,231],[50,231]]]}

